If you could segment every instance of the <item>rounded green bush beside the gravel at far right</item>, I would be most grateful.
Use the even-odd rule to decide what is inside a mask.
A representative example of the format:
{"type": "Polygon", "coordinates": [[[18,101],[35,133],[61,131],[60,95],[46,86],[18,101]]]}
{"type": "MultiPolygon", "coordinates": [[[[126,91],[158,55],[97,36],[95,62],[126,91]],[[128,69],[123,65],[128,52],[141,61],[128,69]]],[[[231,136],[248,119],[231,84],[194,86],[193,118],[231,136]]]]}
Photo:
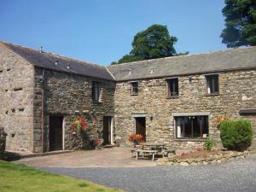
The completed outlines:
{"type": "Polygon", "coordinates": [[[224,120],[220,124],[220,138],[224,148],[245,150],[252,143],[252,124],[246,119],[224,120]]]}

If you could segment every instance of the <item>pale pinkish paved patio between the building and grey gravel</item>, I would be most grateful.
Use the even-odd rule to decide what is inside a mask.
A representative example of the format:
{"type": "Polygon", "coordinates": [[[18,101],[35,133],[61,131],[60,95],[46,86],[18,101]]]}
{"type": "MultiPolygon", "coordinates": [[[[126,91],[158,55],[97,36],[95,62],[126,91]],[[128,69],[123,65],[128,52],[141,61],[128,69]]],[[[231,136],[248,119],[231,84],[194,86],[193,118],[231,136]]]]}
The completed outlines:
{"type": "Polygon", "coordinates": [[[102,148],[16,160],[35,167],[141,167],[156,166],[152,160],[131,158],[131,148],[102,148]]]}

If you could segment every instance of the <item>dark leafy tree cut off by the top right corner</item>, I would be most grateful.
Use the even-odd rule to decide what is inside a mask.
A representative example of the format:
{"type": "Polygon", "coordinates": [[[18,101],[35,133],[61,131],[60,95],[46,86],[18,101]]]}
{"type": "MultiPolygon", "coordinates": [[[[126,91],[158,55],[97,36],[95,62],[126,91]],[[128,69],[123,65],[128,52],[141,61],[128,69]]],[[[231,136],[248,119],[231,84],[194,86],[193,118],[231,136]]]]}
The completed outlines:
{"type": "Polygon", "coordinates": [[[256,45],[256,0],[225,0],[222,43],[227,47],[256,45]]]}

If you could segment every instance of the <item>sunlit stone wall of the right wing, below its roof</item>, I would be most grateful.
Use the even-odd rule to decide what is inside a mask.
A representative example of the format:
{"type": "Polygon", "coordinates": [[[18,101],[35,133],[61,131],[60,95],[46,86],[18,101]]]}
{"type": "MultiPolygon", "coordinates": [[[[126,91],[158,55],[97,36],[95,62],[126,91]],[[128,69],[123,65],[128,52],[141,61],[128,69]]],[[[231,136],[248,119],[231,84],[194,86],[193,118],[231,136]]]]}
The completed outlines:
{"type": "MultiPolygon", "coordinates": [[[[195,148],[201,139],[176,139],[173,113],[209,113],[209,135],[220,143],[218,115],[240,118],[241,108],[256,108],[256,71],[219,74],[219,95],[206,95],[205,75],[178,77],[178,98],[166,98],[166,79],[139,80],[138,96],[131,96],[131,83],[119,82],[115,92],[117,138],[127,142],[135,131],[136,114],[146,116],[147,142],[172,143],[173,147],[195,148]]],[[[255,114],[256,115],[256,114],[255,114]]],[[[256,116],[253,117],[255,119],[256,116]]],[[[253,127],[255,131],[255,125],[253,127]]],[[[254,135],[255,137],[255,135],[254,135]]]]}

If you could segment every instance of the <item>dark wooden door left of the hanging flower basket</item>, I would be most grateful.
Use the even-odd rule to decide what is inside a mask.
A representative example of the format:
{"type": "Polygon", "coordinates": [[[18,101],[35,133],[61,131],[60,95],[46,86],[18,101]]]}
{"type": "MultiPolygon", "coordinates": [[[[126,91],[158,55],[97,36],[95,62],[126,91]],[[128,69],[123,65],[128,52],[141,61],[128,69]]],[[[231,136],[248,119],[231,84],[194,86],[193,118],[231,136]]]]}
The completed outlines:
{"type": "Polygon", "coordinates": [[[49,116],[49,150],[62,150],[62,116],[49,116]]]}

